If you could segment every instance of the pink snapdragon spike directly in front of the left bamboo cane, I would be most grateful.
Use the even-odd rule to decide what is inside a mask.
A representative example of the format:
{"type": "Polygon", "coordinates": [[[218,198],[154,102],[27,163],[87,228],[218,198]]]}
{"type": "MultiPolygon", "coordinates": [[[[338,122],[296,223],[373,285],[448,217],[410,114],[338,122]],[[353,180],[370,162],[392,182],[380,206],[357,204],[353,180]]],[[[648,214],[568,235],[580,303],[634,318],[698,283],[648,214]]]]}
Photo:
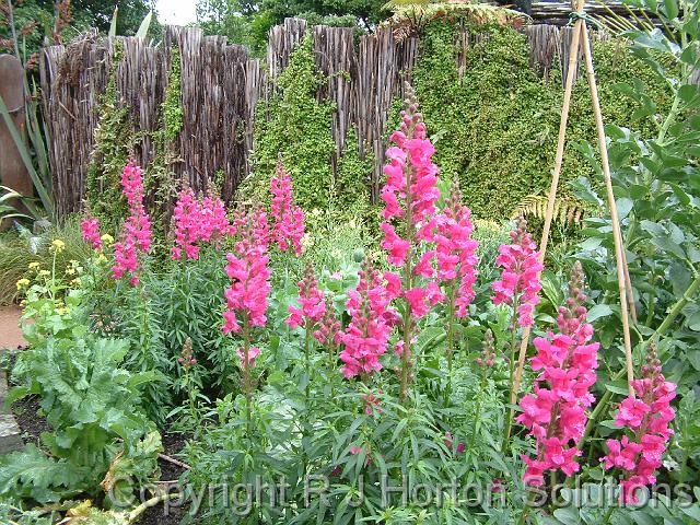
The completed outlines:
{"type": "Polygon", "coordinates": [[[511,238],[512,244],[499,246],[500,255],[495,261],[502,270],[501,279],[493,283],[493,304],[515,303],[518,325],[532,326],[535,306],[539,304],[539,272],[544,267],[539,262],[537,245],[527,233],[527,222],[524,219],[517,221],[511,238]]]}

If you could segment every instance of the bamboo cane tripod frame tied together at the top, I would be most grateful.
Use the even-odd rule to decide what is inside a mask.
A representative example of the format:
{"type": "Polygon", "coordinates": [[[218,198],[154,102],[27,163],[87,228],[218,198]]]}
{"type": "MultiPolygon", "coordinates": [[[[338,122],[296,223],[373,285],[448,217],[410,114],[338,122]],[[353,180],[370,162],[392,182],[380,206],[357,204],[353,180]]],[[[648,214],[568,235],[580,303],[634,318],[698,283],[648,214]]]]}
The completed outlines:
{"type": "MultiPolygon", "coordinates": [[[[603,167],[603,178],[607,191],[608,208],[610,211],[610,221],[612,222],[612,240],[615,243],[615,259],[617,262],[617,280],[620,291],[620,314],[622,317],[622,335],[625,339],[625,360],[627,363],[627,381],[630,395],[634,394],[632,388],[632,380],[634,378],[634,369],[632,364],[632,342],[630,337],[629,312],[632,312],[632,319],[637,317],[634,307],[634,299],[632,296],[632,285],[627,267],[627,256],[622,246],[622,230],[620,229],[620,220],[615,203],[615,195],[612,192],[612,180],[610,178],[610,164],[608,162],[608,150],[605,142],[605,129],[603,127],[603,114],[600,112],[600,102],[598,100],[598,88],[595,81],[595,70],[593,69],[593,56],[591,54],[591,44],[588,38],[588,28],[583,19],[584,0],[575,0],[575,12],[578,13],[576,22],[573,26],[571,37],[571,48],[569,52],[569,68],[567,70],[567,80],[564,84],[564,98],[561,106],[561,121],[559,124],[559,140],[557,142],[557,154],[555,156],[555,170],[551,178],[551,186],[547,200],[547,213],[545,215],[545,226],[542,229],[542,237],[539,246],[539,261],[545,262],[547,253],[547,244],[549,242],[549,233],[555,212],[555,201],[557,199],[557,189],[559,187],[559,176],[561,175],[561,165],[564,156],[564,145],[567,138],[567,124],[569,120],[569,108],[571,105],[571,93],[573,89],[574,73],[579,58],[579,50],[583,45],[584,61],[586,65],[586,77],[588,89],[591,91],[591,102],[593,104],[593,113],[595,117],[595,127],[598,137],[598,149],[600,150],[600,165],[603,167]]],[[[525,355],[529,343],[530,327],[526,327],[521,341],[520,353],[517,358],[517,368],[513,377],[513,387],[511,389],[511,405],[514,405],[520,393],[521,382],[523,378],[523,368],[525,365],[525,355]]],[[[511,419],[513,409],[511,409],[511,419]]]]}

